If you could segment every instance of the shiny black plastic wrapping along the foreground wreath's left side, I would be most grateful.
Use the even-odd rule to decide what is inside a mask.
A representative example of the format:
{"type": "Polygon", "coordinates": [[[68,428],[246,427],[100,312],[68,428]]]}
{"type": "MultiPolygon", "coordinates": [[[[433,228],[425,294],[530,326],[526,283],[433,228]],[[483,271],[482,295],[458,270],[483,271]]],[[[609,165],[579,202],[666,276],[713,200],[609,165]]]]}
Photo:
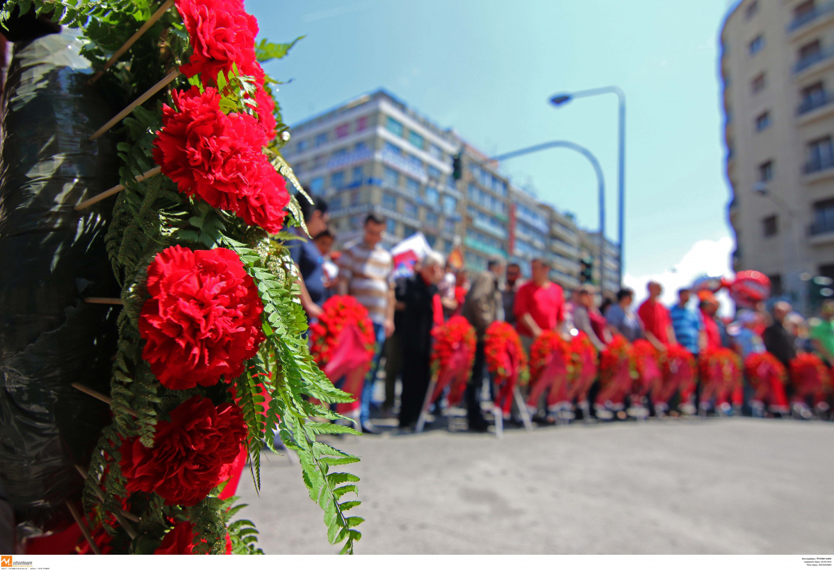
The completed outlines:
{"type": "Polygon", "coordinates": [[[104,249],[114,198],[73,206],[118,183],[113,116],[79,54],[78,31],[18,42],[8,69],[0,152],[0,478],[18,539],[63,529],[109,423],[106,404],[70,383],[109,393],[119,306],[104,249]]]}

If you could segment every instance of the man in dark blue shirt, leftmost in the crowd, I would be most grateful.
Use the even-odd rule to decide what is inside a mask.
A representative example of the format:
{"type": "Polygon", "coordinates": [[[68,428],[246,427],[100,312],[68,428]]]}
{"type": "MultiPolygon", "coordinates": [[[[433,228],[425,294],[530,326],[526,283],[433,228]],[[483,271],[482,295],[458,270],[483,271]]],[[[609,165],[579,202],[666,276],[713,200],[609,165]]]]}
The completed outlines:
{"type": "MultiPolygon", "coordinates": [[[[309,234],[315,238],[319,233],[326,231],[328,214],[324,198],[314,196],[312,204],[304,196],[297,195],[296,198],[301,206],[304,224],[309,234]]],[[[288,241],[287,248],[289,248],[289,257],[293,258],[303,279],[301,305],[308,319],[316,318],[321,314],[320,303],[324,303],[324,269],[322,268],[324,256],[313,240],[304,235],[303,229],[289,228],[289,232],[299,236],[299,239],[288,241]]]]}

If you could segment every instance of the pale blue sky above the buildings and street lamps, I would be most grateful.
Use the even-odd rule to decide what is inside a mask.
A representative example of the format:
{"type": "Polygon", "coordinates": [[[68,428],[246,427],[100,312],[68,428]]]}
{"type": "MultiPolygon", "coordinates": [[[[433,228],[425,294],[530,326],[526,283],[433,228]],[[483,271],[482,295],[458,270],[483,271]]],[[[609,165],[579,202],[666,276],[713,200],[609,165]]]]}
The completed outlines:
{"type": "MultiPolygon", "coordinates": [[[[556,109],[555,92],[618,85],[627,98],[625,271],[672,268],[728,243],[717,37],[726,0],[247,0],[261,37],[306,34],[273,77],[293,124],[384,87],[487,153],[565,139],[605,171],[616,227],[616,100],[556,109]]],[[[597,227],[595,176],[567,150],[505,162],[513,181],[597,227]]],[[[712,255],[726,256],[727,248],[712,255]]]]}

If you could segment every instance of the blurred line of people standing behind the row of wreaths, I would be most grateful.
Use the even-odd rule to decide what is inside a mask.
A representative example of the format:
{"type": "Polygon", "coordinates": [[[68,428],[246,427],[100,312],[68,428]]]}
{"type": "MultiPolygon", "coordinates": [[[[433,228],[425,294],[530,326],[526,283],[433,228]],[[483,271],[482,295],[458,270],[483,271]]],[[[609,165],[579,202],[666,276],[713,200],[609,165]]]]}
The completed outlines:
{"type": "MultiPolygon", "coordinates": [[[[328,228],[324,198],[299,203],[314,238],[290,241],[288,246],[299,268],[301,303],[308,318],[319,316],[329,296],[349,294],[368,309],[374,323],[376,352],[359,398],[359,420],[365,433],[377,432],[372,413],[383,418],[398,415],[400,428],[414,426],[430,384],[431,330],[455,315],[466,318],[477,336],[465,395],[472,431],[487,428],[481,406],[483,394],[490,393],[484,335],[495,321],[513,325],[528,353],[541,333],[556,331],[565,339],[585,333],[599,351],[615,335],[622,335],[630,342],[645,338],[661,350],[680,344],[696,358],[711,348],[731,348],[741,358],[767,351],[786,367],[802,352],[815,352],[827,364],[834,363],[834,303],[823,305],[820,317],[808,322],[784,302],[775,303],[770,311],[763,305],[741,309],[736,318],[727,320],[718,317],[720,303],[711,291],[681,288],[677,303],[667,308],[661,303],[661,284],[651,282],[648,298],[635,310],[635,292],[629,288],[620,289],[615,298],[600,298],[596,288],[585,283],[565,297],[560,285],[550,281],[550,262],[545,258],[532,260],[530,278],[525,279],[519,264],[506,264],[502,258],[491,259],[485,271],[469,273],[446,263],[440,253],[430,252],[416,263],[413,274],[395,278],[391,253],[381,244],[386,227],[383,218],[370,213],[361,238],[346,244],[341,252],[332,252],[335,235],[328,228]],[[372,403],[381,363],[384,401],[372,403]]],[[[303,235],[299,228],[290,231],[303,235]]],[[[644,404],[651,408],[651,403],[644,404]]],[[[680,402],[676,409],[652,413],[696,413],[694,404],[680,402]]],[[[756,415],[756,410],[746,403],[736,413],[756,415]]],[[[610,411],[599,408],[590,414],[612,417],[610,411]]],[[[547,410],[540,415],[540,421],[553,421],[547,410]]],[[[625,414],[620,412],[619,418],[625,414]]]]}

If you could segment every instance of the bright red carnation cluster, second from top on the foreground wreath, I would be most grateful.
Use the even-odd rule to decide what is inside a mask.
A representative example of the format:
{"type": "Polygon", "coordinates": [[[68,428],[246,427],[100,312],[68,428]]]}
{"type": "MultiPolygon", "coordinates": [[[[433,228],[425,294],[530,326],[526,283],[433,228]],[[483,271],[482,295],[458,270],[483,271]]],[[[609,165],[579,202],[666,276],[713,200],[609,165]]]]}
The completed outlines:
{"type": "Polygon", "coordinates": [[[188,197],[234,212],[245,223],[278,233],[289,193],[284,178],[262,152],[267,143],[258,120],[224,114],[214,87],[174,91],[176,108],[163,105],[163,128],[153,159],[188,197]]]}

